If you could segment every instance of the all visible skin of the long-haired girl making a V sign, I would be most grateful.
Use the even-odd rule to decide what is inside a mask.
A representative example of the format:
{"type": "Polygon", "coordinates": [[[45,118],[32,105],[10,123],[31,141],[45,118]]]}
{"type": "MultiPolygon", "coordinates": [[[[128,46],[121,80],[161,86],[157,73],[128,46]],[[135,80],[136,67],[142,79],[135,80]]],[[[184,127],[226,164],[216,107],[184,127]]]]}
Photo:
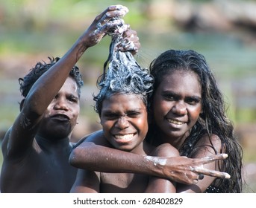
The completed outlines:
{"type": "MultiPolygon", "coordinates": [[[[195,74],[179,74],[179,71],[169,74],[161,83],[154,95],[153,103],[154,118],[162,126],[162,133],[159,134],[158,140],[160,144],[170,143],[179,149],[202,110],[201,88],[195,74]]],[[[219,151],[219,137],[213,135],[211,139],[213,146],[219,151]]],[[[164,155],[168,154],[166,151],[157,155],[161,160],[155,160],[153,157],[143,157],[102,147],[100,146],[102,140],[104,138],[100,131],[90,135],[72,151],[69,160],[76,167],[83,169],[102,172],[136,172],[184,183],[185,185],[176,186],[177,192],[204,192],[216,177],[229,178],[228,174],[219,172],[214,162],[227,155],[216,155],[210,147],[199,149],[193,159],[164,155]],[[199,178],[200,173],[209,176],[199,178]]],[[[207,135],[197,144],[198,147],[202,145],[210,146],[207,135]]],[[[169,181],[152,178],[147,191],[170,192],[168,187],[169,181]]]]}

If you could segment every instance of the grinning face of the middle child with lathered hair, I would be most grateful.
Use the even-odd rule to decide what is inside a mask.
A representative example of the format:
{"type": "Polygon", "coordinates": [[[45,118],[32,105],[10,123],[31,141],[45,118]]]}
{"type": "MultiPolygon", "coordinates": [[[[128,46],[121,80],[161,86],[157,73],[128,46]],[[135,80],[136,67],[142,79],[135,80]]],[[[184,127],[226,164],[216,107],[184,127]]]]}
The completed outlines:
{"type": "Polygon", "coordinates": [[[116,149],[135,153],[148,131],[146,105],[136,94],[113,94],[102,103],[101,124],[116,149]]]}

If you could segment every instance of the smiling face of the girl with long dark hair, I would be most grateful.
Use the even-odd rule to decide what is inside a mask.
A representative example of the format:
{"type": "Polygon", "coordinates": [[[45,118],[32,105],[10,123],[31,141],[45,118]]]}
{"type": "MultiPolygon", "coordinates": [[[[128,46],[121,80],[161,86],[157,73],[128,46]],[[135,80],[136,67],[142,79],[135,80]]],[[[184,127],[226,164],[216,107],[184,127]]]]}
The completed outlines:
{"type": "Polygon", "coordinates": [[[202,111],[202,90],[197,74],[172,71],[154,92],[154,121],[161,131],[161,142],[178,148],[184,142],[202,111]]]}

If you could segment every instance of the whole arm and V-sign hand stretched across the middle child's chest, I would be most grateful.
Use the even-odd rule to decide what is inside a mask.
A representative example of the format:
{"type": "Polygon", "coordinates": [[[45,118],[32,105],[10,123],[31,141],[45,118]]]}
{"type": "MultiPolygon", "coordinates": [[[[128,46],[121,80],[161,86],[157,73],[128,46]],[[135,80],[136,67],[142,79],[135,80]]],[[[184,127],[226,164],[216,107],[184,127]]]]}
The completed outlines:
{"type": "Polygon", "coordinates": [[[91,134],[87,140],[73,149],[69,163],[80,169],[98,172],[134,172],[168,178],[184,184],[196,183],[200,174],[219,178],[230,177],[225,172],[203,167],[206,163],[225,159],[227,157],[225,154],[193,159],[187,157],[147,157],[104,147],[101,145],[102,142],[104,143],[102,131],[91,134]]]}

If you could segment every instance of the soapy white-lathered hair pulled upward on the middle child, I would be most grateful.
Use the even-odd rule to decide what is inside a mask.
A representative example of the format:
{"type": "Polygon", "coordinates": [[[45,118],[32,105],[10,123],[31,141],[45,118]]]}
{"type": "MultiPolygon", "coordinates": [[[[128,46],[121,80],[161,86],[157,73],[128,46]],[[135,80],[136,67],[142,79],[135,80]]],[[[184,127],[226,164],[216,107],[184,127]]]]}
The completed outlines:
{"type": "Polygon", "coordinates": [[[96,101],[95,111],[101,116],[102,103],[113,94],[137,94],[143,103],[148,106],[148,99],[153,90],[154,79],[149,70],[141,68],[130,52],[116,51],[120,34],[112,34],[110,53],[104,63],[103,74],[99,77],[97,85],[99,94],[93,96],[96,101]],[[108,65],[108,68],[107,68],[108,65]]]}

